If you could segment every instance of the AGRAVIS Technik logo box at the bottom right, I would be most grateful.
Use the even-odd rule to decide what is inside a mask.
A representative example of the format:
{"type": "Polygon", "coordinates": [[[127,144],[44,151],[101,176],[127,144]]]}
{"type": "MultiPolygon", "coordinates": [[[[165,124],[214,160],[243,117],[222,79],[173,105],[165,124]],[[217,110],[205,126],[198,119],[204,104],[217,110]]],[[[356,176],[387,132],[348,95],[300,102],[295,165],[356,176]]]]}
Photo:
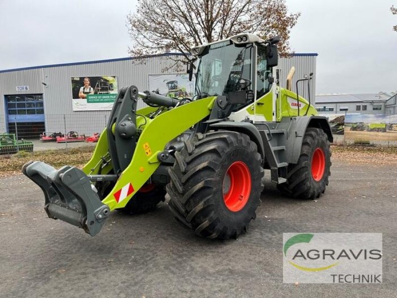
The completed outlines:
{"type": "Polygon", "coordinates": [[[381,283],[381,233],[284,233],[284,283],[381,283]]]}

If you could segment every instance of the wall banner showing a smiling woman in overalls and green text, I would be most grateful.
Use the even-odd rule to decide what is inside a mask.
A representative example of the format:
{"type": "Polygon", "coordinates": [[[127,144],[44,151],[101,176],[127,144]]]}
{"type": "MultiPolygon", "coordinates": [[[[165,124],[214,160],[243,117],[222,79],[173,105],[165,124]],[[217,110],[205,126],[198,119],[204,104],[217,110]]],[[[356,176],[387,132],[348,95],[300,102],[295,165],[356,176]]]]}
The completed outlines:
{"type": "Polygon", "coordinates": [[[108,111],[116,100],[116,75],[72,76],[73,111],[108,111]]]}

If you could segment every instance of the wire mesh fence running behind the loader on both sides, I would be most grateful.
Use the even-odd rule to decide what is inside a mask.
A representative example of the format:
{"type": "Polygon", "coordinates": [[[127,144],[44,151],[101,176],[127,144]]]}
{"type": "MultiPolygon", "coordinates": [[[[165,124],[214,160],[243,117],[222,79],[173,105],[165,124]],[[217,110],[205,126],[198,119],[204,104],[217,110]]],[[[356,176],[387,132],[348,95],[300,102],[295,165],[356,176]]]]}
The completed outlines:
{"type": "MultiPolygon", "coordinates": [[[[12,154],[21,150],[36,151],[93,146],[86,139],[103,131],[109,120],[110,111],[45,115],[43,122],[37,122],[38,119],[35,119],[34,116],[37,115],[0,115],[0,154],[12,154]],[[44,132],[46,132],[45,136],[47,137],[54,133],[56,135],[53,135],[53,138],[44,140],[42,137],[44,132]],[[70,138],[66,138],[64,141],[58,140],[57,142],[57,135],[69,136],[70,138]]],[[[358,116],[354,115],[354,117],[358,116]]],[[[369,117],[368,115],[364,116],[369,117]]],[[[379,115],[377,117],[379,118],[379,115]]],[[[385,115],[385,117],[397,117],[397,115],[385,115]]],[[[374,122],[379,122],[378,125],[386,122],[397,122],[397,120],[390,122],[389,118],[390,121],[382,119],[368,120],[366,122],[370,124],[367,126],[370,127],[374,122]]],[[[336,144],[348,145],[365,141],[374,145],[397,146],[397,124],[388,126],[386,132],[376,129],[366,129],[362,132],[355,131],[351,127],[349,128],[349,124],[345,126],[344,123],[341,123],[340,127],[340,132],[334,132],[336,144]],[[341,135],[337,135],[338,133],[341,135]]]]}

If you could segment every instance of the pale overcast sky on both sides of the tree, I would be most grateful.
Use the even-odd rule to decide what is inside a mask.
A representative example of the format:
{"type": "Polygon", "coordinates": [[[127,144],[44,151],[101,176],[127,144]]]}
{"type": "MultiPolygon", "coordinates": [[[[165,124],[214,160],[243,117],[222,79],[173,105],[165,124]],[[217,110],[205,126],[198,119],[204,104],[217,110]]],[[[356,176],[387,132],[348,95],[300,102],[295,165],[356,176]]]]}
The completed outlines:
{"type": "MultiPolygon", "coordinates": [[[[127,57],[136,0],[0,0],[0,70],[127,57]]],[[[287,0],[296,53],[318,53],[318,94],[397,90],[392,0],[287,0]]]]}

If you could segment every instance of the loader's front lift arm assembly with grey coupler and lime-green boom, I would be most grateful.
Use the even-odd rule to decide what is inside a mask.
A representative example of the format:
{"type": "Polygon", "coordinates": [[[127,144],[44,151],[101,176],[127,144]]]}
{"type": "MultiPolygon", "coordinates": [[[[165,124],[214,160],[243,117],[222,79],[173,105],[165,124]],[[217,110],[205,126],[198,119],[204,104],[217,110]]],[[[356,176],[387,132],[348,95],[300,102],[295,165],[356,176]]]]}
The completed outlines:
{"type": "MultiPolygon", "coordinates": [[[[97,234],[109,212],[125,207],[168,156],[169,152],[164,148],[169,140],[208,116],[214,102],[213,97],[208,97],[168,110],[154,119],[146,119],[146,124],[141,125],[143,129],[139,139],[135,140],[136,115],[147,110],[144,108],[135,112],[138,94],[135,86],[119,92],[108,127],[101,134],[94,154],[83,171],[68,166],[56,170],[38,161],[24,165],[23,173],[45,193],[45,210],[50,218],[82,227],[92,236],[97,234]],[[109,172],[112,167],[116,175],[100,174],[109,172]],[[91,182],[116,179],[113,190],[101,203],[91,182]]],[[[141,97],[149,104],[164,104],[166,107],[177,104],[176,99],[150,92],[142,93],[141,97]]],[[[146,116],[140,117],[145,119],[146,116]]]]}

